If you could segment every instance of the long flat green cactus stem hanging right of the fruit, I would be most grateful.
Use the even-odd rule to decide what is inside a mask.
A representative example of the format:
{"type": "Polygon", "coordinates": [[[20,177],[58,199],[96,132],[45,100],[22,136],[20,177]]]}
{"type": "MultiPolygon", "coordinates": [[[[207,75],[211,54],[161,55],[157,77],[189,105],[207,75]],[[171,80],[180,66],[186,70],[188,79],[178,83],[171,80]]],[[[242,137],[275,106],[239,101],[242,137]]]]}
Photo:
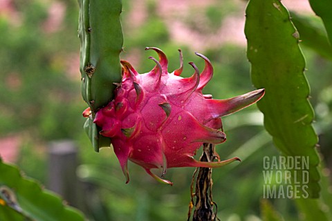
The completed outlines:
{"type": "MultiPolygon", "coordinates": [[[[320,193],[320,158],[317,135],[311,123],[313,108],[304,76],[305,61],[299,48],[299,33],[279,0],[251,0],[246,9],[247,56],[252,82],[265,88],[257,106],[264,113],[264,126],[284,155],[309,157],[308,195],[320,193]]],[[[302,180],[302,173],[297,173],[302,180]]],[[[306,193],[304,193],[306,194],[306,193]]]]}

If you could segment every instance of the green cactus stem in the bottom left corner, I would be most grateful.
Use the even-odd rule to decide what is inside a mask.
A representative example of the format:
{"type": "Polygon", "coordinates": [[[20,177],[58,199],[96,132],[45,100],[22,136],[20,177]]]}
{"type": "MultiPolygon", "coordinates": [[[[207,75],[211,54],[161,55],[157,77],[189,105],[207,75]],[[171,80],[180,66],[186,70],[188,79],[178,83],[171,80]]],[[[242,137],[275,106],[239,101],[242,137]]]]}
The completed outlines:
{"type": "Polygon", "coordinates": [[[64,205],[55,193],[42,189],[1,159],[0,174],[0,220],[84,220],[80,211],[64,205]]]}

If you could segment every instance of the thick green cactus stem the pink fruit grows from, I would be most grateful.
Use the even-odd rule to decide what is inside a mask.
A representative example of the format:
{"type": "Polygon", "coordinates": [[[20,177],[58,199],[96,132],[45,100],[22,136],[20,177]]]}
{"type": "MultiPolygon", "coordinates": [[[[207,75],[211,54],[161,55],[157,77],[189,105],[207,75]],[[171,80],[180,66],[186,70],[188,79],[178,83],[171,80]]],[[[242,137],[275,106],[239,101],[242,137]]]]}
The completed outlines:
{"type": "MultiPolygon", "coordinates": [[[[121,0],[79,0],[78,3],[82,97],[89,104],[93,118],[98,109],[111,102],[116,88],[114,83],[121,80],[122,3],[121,0]]],[[[99,134],[91,119],[87,119],[84,128],[89,131],[96,151],[102,146],[110,146],[111,140],[99,134]]]]}

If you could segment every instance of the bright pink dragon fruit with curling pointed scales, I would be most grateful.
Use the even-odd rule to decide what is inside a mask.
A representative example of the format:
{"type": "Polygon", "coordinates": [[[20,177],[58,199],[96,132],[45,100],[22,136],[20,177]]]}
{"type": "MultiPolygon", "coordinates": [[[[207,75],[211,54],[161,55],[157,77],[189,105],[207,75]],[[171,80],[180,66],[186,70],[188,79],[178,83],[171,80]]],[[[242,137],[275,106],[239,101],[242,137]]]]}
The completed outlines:
{"type": "MultiPolygon", "coordinates": [[[[113,101],[100,108],[94,123],[102,128],[100,134],[111,137],[114,152],[129,182],[127,162],[142,166],[159,182],[164,180],[151,169],[161,169],[162,177],[172,167],[219,167],[239,158],[218,162],[199,162],[194,159],[203,143],[220,144],[226,136],[221,131],[221,117],[239,111],[257,102],[264,89],[259,89],[230,99],[212,99],[203,95],[202,89],[212,78],[213,68],[208,58],[200,74],[196,66],[192,77],[180,77],[181,67],[167,72],[167,57],[158,48],[146,48],[158,53],[156,66],[145,74],[138,72],[128,61],[121,61],[122,82],[115,90],[113,101]]],[[[89,108],[83,115],[89,117],[89,108]]]]}

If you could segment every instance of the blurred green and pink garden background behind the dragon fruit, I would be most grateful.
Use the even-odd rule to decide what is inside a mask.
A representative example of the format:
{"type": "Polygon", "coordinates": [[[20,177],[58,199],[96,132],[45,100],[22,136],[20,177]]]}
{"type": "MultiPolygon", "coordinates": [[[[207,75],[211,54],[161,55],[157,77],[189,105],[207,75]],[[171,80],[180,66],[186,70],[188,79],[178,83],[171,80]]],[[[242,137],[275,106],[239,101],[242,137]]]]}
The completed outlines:
{"type": "MultiPolygon", "coordinates": [[[[313,17],[306,1],[288,0],[290,10],[313,17]]],[[[169,72],[179,66],[183,50],[184,76],[194,72],[189,61],[203,70],[194,52],[212,61],[214,77],[205,94],[224,99],[253,90],[243,33],[246,1],[123,0],[124,52],[121,58],[139,73],[154,67],[154,52],[162,49],[169,72]]],[[[26,175],[48,186],[50,144],[70,140],[77,146],[77,177],[82,206],[91,220],[186,220],[194,169],[169,169],[165,186],[129,163],[131,182],[125,179],[111,148],[93,151],[83,131],[80,94],[80,40],[77,37],[78,4],[75,0],[0,0],[0,155],[18,164],[26,175]]],[[[319,21],[317,21],[319,24],[319,21]]],[[[314,124],[320,151],[331,168],[332,64],[302,47],[311,84],[314,124]]],[[[216,147],[221,158],[240,157],[213,170],[214,201],[221,220],[260,220],[263,195],[263,157],[279,155],[264,131],[263,116],[250,106],[223,118],[228,141],[216,147]]],[[[200,154],[200,153],[199,153],[200,154]]],[[[329,169],[324,170],[326,175],[329,169]]],[[[332,191],[332,189],[330,189],[332,191]]],[[[285,220],[297,220],[293,201],[272,200],[285,220]]],[[[69,202],[71,203],[71,202],[69,202]]]]}

